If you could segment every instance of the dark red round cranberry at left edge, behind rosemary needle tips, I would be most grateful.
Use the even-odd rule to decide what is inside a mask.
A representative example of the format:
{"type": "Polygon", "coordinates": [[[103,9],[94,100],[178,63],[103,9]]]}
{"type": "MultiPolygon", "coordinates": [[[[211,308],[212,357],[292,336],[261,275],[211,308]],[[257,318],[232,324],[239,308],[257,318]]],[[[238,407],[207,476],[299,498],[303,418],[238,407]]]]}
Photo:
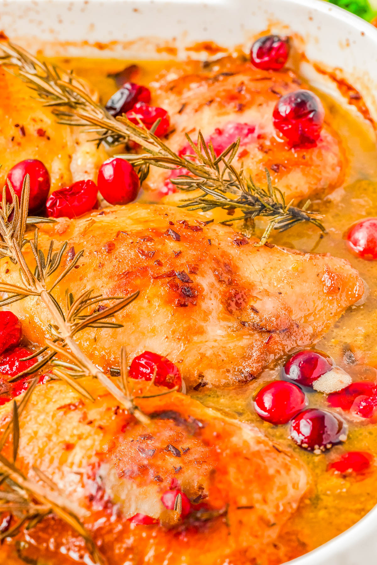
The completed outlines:
{"type": "MultiPolygon", "coordinates": [[[[46,167],[38,159],[20,161],[8,172],[7,179],[11,182],[14,192],[21,198],[25,175],[30,176],[29,212],[36,212],[45,205],[50,192],[50,175],[46,167]]],[[[11,201],[11,193],[7,188],[7,200],[11,201]]]]}

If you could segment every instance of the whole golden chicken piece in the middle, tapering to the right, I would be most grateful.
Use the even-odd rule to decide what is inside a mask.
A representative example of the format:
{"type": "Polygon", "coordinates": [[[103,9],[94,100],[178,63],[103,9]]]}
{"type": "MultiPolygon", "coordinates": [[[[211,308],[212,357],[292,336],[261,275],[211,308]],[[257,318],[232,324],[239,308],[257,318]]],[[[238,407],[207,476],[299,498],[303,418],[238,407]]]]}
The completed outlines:
{"type": "MultiPolygon", "coordinates": [[[[166,355],[189,386],[235,385],[318,340],[362,297],[363,283],[344,259],[255,247],[231,227],[199,218],[176,207],[131,204],[41,226],[42,249],[51,239],[68,241],[60,268],[85,250],[54,289],[60,304],[67,287],[76,297],[89,289],[104,296],[140,291],[116,317],[122,329],[77,334],[99,367],[118,366],[126,345],[130,360],[145,350],[166,355]]],[[[30,247],[23,251],[32,264],[30,247]]],[[[3,259],[0,280],[18,284],[18,277],[3,259]]],[[[50,318],[38,299],[11,309],[25,336],[44,344],[50,318]]]]}

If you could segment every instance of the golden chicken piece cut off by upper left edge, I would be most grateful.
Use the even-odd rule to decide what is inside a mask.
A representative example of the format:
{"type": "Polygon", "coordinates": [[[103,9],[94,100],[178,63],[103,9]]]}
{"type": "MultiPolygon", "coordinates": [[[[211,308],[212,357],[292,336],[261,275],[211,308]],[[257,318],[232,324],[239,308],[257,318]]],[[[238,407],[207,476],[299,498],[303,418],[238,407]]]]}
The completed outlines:
{"type": "MultiPolygon", "coordinates": [[[[7,173],[24,159],[44,163],[51,177],[51,190],[83,179],[97,179],[106,159],[103,149],[88,141],[93,135],[57,124],[51,109],[34,100],[32,91],[18,77],[0,68],[0,186],[7,173]]],[[[93,98],[98,94],[93,90],[93,98]]]]}

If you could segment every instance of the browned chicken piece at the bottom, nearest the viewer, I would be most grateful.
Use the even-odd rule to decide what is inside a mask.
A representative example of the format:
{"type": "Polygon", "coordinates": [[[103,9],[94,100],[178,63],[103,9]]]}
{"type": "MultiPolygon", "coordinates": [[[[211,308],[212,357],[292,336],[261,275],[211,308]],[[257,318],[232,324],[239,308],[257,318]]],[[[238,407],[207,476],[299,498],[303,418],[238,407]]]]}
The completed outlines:
{"type": "MultiPolygon", "coordinates": [[[[152,555],[154,565],[274,563],[270,544],[310,482],[292,453],[180,393],[139,399],[151,418],[144,427],[97,381],[80,382],[95,402],[65,383],[37,386],[20,420],[17,464],[37,482],[38,467],[89,511],[84,525],[109,565],[150,563],[152,555]],[[183,518],[161,500],[176,489],[189,500],[183,518]],[[129,521],[138,513],[157,523],[129,521]]],[[[153,393],[161,388],[137,381],[135,394],[153,393]]],[[[2,427],[8,412],[0,411],[2,427]]],[[[56,518],[8,539],[0,562],[13,563],[16,542],[25,540],[24,558],[90,563],[83,540],[56,518]]]]}

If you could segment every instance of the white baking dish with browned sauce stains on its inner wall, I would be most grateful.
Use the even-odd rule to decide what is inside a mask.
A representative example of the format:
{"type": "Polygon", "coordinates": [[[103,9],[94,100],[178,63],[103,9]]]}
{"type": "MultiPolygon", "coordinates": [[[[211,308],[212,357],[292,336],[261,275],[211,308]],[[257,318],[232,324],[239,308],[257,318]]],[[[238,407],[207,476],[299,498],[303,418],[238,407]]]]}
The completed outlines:
{"type": "MultiPolygon", "coordinates": [[[[377,29],[319,0],[0,0],[0,8],[0,29],[7,36],[47,54],[171,58],[174,48],[177,57],[185,58],[192,54],[186,48],[196,42],[247,50],[261,31],[293,34],[311,62],[342,69],[377,119],[377,29]]],[[[302,63],[300,71],[339,97],[333,83],[310,64],[302,63]]],[[[291,563],[374,565],[376,556],[377,507],[341,536],[291,563]]]]}

